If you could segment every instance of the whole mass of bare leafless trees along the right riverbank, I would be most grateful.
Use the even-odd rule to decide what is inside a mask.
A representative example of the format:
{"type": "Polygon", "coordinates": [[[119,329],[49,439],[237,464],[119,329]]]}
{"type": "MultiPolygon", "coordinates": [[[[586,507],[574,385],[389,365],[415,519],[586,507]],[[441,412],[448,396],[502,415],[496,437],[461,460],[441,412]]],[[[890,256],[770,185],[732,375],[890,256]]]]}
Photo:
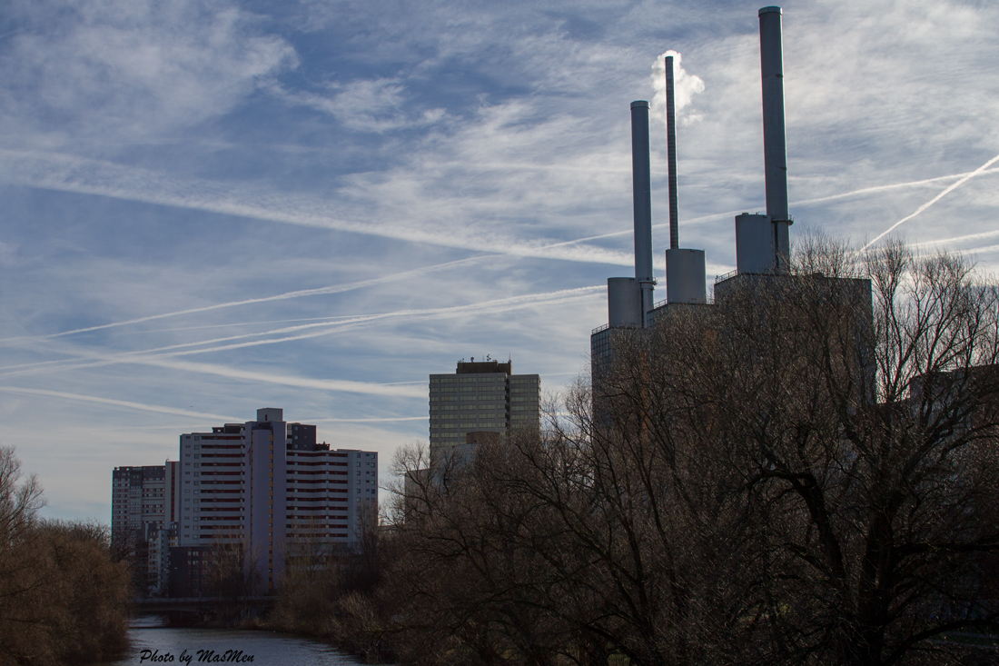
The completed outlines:
{"type": "Polygon", "coordinates": [[[618,331],[538,430],[401,452],[404,660],[920,664],[999,628],[995,287],[897,244],[796,261],[618,331]]]}

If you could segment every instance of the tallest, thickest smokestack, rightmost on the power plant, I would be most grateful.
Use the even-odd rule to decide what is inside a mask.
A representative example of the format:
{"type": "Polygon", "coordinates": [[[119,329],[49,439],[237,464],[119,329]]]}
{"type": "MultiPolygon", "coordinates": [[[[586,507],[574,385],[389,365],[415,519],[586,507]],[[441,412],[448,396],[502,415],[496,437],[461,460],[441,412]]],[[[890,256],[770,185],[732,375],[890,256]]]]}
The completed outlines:
{"type": "Polygon", "coordinates": [[[759,53],[763,87],[763,164],[766,173],[766,214],[773,224],[774,269],[789,269],[787,227],[787,145],[784,137],[784,65],[780,37],[780,7],[759,10],[759,53]]]}

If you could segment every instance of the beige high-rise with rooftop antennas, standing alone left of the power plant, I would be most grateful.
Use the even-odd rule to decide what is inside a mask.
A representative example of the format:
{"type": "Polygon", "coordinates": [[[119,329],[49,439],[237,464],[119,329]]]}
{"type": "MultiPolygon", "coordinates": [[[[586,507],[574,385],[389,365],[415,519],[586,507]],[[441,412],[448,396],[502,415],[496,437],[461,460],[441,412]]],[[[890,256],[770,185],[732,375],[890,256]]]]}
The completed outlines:
{"type": "Polygon", "coordinates": [[[471,443],[470,433],[536,426],[539,389],[538,375],[514,375],[508,361],[473,359],[455,374],[431,375],[431,451],[471,443]]]}

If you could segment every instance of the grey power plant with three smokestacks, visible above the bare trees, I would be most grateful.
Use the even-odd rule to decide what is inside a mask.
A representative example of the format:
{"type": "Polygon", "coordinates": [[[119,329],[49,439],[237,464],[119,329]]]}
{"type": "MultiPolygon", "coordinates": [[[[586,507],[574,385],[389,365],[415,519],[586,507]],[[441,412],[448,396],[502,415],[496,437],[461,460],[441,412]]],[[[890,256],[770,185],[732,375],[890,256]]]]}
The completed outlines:
{"type": "MultiPolygon", "coordinates": [[[[766,214],[742,213],[735,217],[736,269],[718,276],[714,300],[720,301],[739,289],[763,294],[785,289],[781,281],[801,279],[790,274],[788,227],[793,218],[788,211],[787,151],[784,132],[783,59],[781,10],[759,10],[760,64],[763,104],[763,164],[765,173],[766,214]]],[[[607,280],[607,324],[593,329],[590,335],[590,369],[594,382],[614,363],[616,341],[631,339],[635,329],[647,329],[675,308],[706,305],[704,252],[678,247],[676,203],[676,148],[673,104],[672,58],[667,57],[666,125],[669,166],[670,247],[666,250],[666,300],[649,307],[644,290],[651,290],[654,280],[651,266],[651,214],[646,183],[648,174],[648,103],[631,103],[632,174],[634,181],[635,277],[607,280]]],[[[870,283],[867,280],[807,276],[822,279],[819,289],[835,291],[857,304],[857,345],[868,344],[870,328],[870,283]]],[[[867,369],[861,370],[865,375],[867,369]]],[[[595,385],[595,384],[594,384],[595,385]]]]}

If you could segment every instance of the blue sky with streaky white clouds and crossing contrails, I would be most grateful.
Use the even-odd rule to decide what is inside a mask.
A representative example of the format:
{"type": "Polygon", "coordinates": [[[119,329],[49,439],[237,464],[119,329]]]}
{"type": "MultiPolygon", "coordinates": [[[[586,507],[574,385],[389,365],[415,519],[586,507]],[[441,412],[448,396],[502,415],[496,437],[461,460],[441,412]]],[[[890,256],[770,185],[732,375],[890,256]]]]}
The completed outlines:
{"type": "MultiPolygon", "coordinates": [[[[628,105],[666,50],[680,244],[709,281],[734,267],[733,215],[764,208],[759,6],[4,3],[0,443],[47,515],[107,521],[114,466],[258,407],[385,472],[462,358],[558,390],[606,278],[633,275],[628,105]]],[[[918,211],[892,233],[994,272],[999,5],[796,2],[783,22],[792,242],[918,211]]]]}

